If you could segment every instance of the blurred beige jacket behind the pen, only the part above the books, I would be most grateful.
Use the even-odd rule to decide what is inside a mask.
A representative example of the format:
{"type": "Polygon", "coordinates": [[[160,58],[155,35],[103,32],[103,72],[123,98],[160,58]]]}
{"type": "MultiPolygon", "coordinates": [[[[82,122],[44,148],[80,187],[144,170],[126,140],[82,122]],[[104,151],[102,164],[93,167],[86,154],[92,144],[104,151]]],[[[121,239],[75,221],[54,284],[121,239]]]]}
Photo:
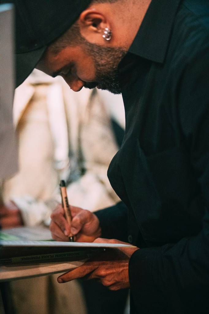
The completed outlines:
{"type": "Polygon", "coordinates": [[[53,206],[48,206],[48,200],[60,202],[58,183],[69,174],[67,161],[72,205],[97,210],[115,204],[119,198],[110,186],[107,168],[118,147],[97,89],[75,93],[64,80],[36,71],[17,92],[14,117],[20,171],[4,183],[4,199],[14,200],[25,224],[49,223],[53,206]],[[81,168],[86,169],[83,176],[81,168]]]}

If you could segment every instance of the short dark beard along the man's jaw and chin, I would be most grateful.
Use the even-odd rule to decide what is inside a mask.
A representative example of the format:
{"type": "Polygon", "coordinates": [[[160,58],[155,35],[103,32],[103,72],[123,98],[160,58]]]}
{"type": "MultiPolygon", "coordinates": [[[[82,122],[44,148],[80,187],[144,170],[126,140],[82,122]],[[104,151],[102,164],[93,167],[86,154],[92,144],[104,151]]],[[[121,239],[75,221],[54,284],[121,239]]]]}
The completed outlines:
{"type": "Polygon", "coordinates": [[[104,47],[85,40],[84,49],[92,57],[95,67],[95,82],[86,82],[85,88],[106,89],[112,94],[120,94],[118,64],[127,51],[120,47],[104,47]]]}

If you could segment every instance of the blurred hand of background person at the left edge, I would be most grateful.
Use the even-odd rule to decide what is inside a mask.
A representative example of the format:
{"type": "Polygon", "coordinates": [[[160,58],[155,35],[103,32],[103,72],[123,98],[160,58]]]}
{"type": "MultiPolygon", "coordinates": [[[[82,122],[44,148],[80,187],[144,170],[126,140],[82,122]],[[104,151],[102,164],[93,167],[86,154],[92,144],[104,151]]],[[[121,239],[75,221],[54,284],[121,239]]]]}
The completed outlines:
{"type": "Polygon", "coordinates": [[[20,210],[12,201],[0,206],[0,226],[2,229],[23,225],[20,210]]]}

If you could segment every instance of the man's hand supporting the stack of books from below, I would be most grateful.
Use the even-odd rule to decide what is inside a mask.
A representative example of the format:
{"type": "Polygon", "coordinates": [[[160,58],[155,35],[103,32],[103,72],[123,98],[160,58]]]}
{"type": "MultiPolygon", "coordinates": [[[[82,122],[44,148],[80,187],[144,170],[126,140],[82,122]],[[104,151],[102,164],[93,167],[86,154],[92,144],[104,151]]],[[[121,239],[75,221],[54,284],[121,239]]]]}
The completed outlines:
{"type": "MultiPolygon", "coordinates": [[[[129,244],[101,238],[96,239],[95,242],[129,244]]],[[[128,263],[131,255],[136,250],[138,250],[138,247],[108,249],[91,258],[82,266],[59,276],[57,280],[59,283],[64,283],[76,278],[96,279],[108,287],[109,290],[129,288],[128,263]]]]}

